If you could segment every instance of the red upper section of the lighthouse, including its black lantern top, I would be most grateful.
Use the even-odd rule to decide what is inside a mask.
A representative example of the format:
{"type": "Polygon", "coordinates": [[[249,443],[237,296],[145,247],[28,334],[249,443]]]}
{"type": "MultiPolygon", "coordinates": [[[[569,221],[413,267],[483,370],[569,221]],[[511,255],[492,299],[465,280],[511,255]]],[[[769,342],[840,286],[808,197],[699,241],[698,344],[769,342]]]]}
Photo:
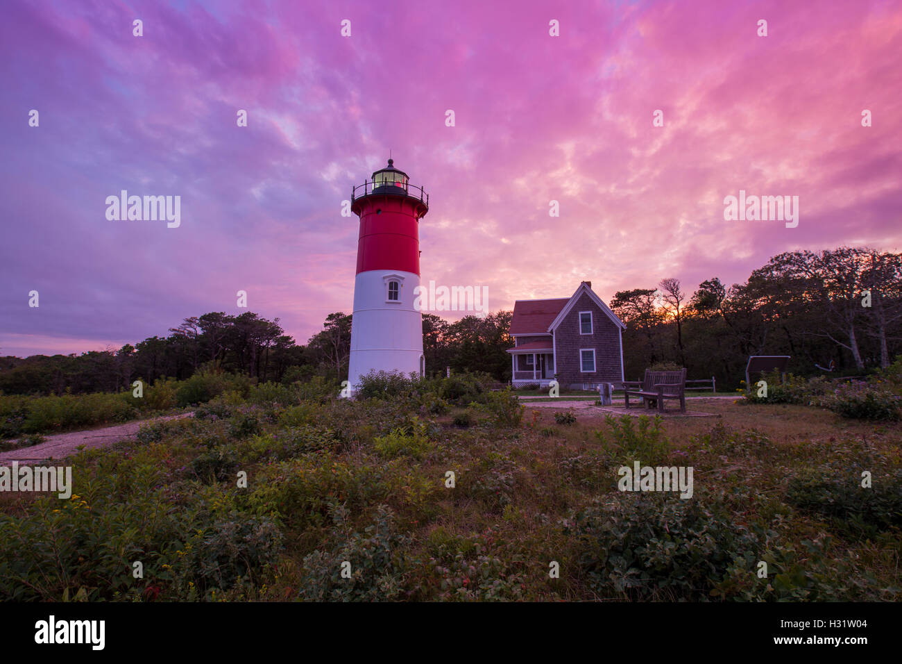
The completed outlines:
{"type": "Polygon", "coordinates": [[[357,274],[398,270],[419,276],[419,220],[428,196],[410,187],[407,174],[392,167],[373,173],[373,182],[354,187],[351,210],[360,217],[357,274]]]}

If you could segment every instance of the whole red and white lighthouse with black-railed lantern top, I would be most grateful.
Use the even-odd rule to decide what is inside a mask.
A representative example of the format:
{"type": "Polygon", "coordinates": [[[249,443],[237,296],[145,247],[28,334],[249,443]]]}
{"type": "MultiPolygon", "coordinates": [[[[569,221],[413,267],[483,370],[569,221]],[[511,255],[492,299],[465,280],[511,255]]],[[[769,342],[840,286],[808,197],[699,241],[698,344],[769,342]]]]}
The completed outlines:
{"type": "Polygon", "coordinates": [[[351,211],[360,218],[348,384],[353,392],[371,371],[424,376],[419,307],[419,220],[429,210],[422,187],[388,166],[373,182],[354,186],[351,211]]]}

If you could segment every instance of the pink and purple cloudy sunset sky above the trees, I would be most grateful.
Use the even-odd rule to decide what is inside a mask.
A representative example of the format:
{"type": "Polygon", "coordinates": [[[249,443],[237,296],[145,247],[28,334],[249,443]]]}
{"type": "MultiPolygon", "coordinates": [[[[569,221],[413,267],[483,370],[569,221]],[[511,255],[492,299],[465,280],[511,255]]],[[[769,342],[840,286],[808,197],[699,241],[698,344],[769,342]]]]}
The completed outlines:
{"type": "Polygon", "coordinates": [[[666,277],[741,283],[784,251],[902,248],[899,1],[0,11],[0,355],[211,311],[307,341],[353,309],[343,201],[390,151],[429,193],[423,281],[487,286],[491,311],[582,280],[610,303],[666,277]],[[179,196],[179,226],[107,219],[122,190],[179,196]],[[725,220],[740,190],[797,196],[797,226],[725,220]]]}

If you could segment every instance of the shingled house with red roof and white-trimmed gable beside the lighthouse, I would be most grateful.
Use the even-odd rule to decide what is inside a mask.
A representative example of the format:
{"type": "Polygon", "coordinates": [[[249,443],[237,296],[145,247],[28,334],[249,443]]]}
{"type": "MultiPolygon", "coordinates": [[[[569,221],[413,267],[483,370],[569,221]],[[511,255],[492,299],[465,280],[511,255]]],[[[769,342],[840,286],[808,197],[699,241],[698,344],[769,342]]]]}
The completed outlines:
{"type": "Polygon", "coordinates": [[[570,297],[517,300],[513,305],[513,386],[594,389],[623,380],[626,327],[584,281],[570,297]]]}

